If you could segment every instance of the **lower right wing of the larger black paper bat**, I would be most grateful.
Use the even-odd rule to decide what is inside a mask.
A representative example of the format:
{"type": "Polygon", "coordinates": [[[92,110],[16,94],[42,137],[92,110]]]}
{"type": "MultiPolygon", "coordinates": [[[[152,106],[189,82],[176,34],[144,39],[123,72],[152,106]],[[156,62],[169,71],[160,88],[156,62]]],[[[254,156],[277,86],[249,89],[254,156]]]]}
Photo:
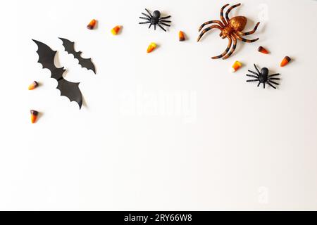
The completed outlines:
{"type": "Polygon", "coordinates": [[[56,88],[61,91],[61,96],[66,96],[70,101],[77,102],[79,107],[82,108],[82,93],[78,87],[79,84],[61,79],[58,81],[56,88]]]}

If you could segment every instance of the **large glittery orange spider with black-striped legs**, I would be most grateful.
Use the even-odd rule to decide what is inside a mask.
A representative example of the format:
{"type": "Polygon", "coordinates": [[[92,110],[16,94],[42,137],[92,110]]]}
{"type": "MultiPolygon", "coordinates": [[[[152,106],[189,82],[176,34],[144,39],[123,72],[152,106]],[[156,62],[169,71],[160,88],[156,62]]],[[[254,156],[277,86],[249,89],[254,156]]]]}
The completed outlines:
{"type": "Polygon", "coordinates": [[[232,11],[232,8],[236,8],[237,6],[240,6],[241,4],[236,4],[234,6],[231,6],[228,11],[225,13],[225,18],[223,17],[223,10],[225,9],[225,7],[229,6],[229,4],[226,4],[225,6],[223,6],[223,8],[220,9],[220,20],[210,20],[207,21],[206,23],[203,23],[200,27],[198,31],[201,31],[201,29],[205,26],[205,25],[209,25],[212,23],[216,23],[216,25],[211,25],[210,27],[207,27],[206,29],[204,29],[201,34],[199,34],[199,37],[197,39],[197,41],[199,41],[201,39],[201,37],[209,30],[213,29],[213,28],[217,28],[219,29],[220,32],[220,37],[222,39],[228,38],[228,47],[227,49],[225,49],[225,51],[219,55],[219,56],[213,56],[213,59],[216,58],[222,58],[226,59],[229,58],[232,53],[235,51],[235,48],[237,46],[237,39],[239,39],[240,41],[244,41],[244,42],[254,42],[257,41],[259,38],[257,39],[244,39],[241,37],[241,35],[249,35],[249,34],[253,34],[254,32],[256,32],[256,29],[258,28],[260,23],[256,23],[256,26],[254,27],[253,30],[251,30],[250,32],[242,32],[242,30],[244,29],[245,25],[247,24],[247,18],[245,18],[244,16],[235,16],[233,18],[229,18],[229,13],[230,11],[232,11]],[[232,46],[232,41],[233,41],[233,46],[232,46]],[[228,51],[230,50],[232,46],[231,51],[228,53],[228,51]],[[227,54],[228,53],[228,54],[227,54]]]}

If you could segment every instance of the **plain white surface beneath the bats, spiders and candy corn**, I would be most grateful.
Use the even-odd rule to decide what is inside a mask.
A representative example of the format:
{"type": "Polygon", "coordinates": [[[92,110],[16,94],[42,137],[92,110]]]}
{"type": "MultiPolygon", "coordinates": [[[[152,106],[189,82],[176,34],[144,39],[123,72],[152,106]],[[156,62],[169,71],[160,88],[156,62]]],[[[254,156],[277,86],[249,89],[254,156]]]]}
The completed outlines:
{"type": "Polygon", "coordinates": [[[228,43],[218,30],[197,43],[197,29],[227,2],[237,3],[1,7],[0,209],[317,210],[317,3],[242,1],[230,15],[247,16],[246,31],[260,20],[249,36],[260,40],[239,41],[231,58],[211,60],[228,43]],[[144,8],[172,15],[170,31],[138,25],[144,8]],[[92,18],[99,25],[90,31],[92,18]],[[115,25],[123,25],[116,37],[115,25]],[[180,43],[179,30],[189,40],[180,43]],[[97,75],[58,37],[92,57],[97,75]],[[82,110],[60,96],[31,39],[58,50],[56,65],[81,82],[82,110]],[[151,41],[159,48],[147,54],[151,41]],[[258,53],[260,45],[271,54],[258,53]],[[284,56],[294,60],[280,68],[284,56]],[[244,67],[232,74],[235,60],[244,67]],[[246,83],[253,63],[280,72],[280,87],[246,83]],[[33,80],[42,85],[27,91],[33,80]],[[42,113],[37,124],[30,109],[42,113]]]}

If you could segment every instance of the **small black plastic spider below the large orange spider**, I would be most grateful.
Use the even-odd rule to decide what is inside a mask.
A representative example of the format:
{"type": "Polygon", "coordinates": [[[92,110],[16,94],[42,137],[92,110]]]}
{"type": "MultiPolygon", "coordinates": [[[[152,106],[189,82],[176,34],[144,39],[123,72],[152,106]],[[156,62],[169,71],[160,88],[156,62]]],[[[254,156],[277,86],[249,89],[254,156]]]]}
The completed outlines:
{"type": "MultiPolygon", "coordinates": [[[[256,68],[256,65],[254,64],[254,68],[256,68]]],[[[261,72],[258,70],[258,68],[256,68],[256,72],[253,72],[251,70],[248,70],[249,72],[253,73],[254,75],[247,75],[248,77],[254,77],[256,79],[248,79],[247,82],[259,82],[258,86],[263,83],[263,89],[266,88],[266,84],[270,85],[273,87],[273,89],[276,89],[275,86],[273,86],[273,84],[279,85],[276,82],[273,82],[272,79],[278,80],[280,78],[275,78],[275,76],[280,75],[279,73],[275,73],[274,75],[268,75],[268,68],[262,68],[261,72]]]]}

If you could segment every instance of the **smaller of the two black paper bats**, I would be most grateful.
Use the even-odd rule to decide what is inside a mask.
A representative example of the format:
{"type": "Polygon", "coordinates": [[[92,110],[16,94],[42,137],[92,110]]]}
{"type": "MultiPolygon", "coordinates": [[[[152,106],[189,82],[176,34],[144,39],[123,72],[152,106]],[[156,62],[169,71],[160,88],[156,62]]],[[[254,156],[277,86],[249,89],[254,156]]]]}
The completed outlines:
{"type": "Polygon", "coordinates": [[[72,54],[74,56],[74,58],[77,58],[77,60],[79,61],[79,64],[82,66],[82,68],[86,68],[87,70],[92,70],[92,71],[94,71],[94,74],[96,74],[96,69],[94,68],[94,64],[92,63],[92,59],[91,58],[82,58],[82,56],[80,56],[82,54],[82,52],[75,51],[75,42],[72,42],[68,39],[61,38],[61,37],[59,37],[59,39],[61,39],[63,41],[63,46],[65,48],[65,51],[68,52],[68,54],[72,54]]]}

